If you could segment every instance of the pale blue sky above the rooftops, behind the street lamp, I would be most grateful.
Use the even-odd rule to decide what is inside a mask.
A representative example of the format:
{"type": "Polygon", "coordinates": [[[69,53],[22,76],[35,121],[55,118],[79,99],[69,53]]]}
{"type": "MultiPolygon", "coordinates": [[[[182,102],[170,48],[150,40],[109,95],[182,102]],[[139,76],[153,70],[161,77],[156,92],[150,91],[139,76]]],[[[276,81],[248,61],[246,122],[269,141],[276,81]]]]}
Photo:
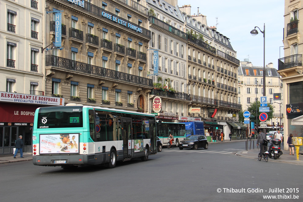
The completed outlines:
{"type": "Polygon", "coordinates": [[[283,28],[284,0],[178,0],[178,6],[190,4],[191,15],[206,16],[207,26],[215,26],[217,31],[230,39],[237,59],[249,58],[254,66],[263,67],[264,38],[258,28],[258,35],[250,31],[255,26],[261,31],[265,23],[265,65],[272,62],[278,69],[278,59],[284,57],[283,28]],[[216,19],[218,18],[218,19],[216,19]]]}

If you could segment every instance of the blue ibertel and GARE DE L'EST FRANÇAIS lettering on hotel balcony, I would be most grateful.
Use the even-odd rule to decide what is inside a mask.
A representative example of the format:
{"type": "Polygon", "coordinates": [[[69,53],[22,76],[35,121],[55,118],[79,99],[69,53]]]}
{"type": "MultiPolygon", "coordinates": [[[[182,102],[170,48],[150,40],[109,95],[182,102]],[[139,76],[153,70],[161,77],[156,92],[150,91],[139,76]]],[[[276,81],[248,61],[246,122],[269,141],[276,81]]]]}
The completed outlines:
{"type": "MultiPolygon", "coordinates": [[[[66,1],[66,0],[65,0],[66,1]]],[[[80,6],[82,8],[84,8],[84,0],[67,0],[68,2],[72,3],[72,4],[75,4],[77,6],[80,6]]],[[[118,16],[114,15],[114,14],[111,14],[109,12],[105,12],[103,9],[100,9],[102,12],[101,12],[101,15],[102,17],[108,19],[108,20],[111,20],[111,21],[114,21],[118,24],[121,24],[125,27],[128,27],[130,29],[133,29],[135,30],[136,32],[140,32],[142,33],[143,30],[142,28],[140,28],[139,26],[133,24],[133,23],[130,23],[130,22],[127,22],[125,21],[123,18],[119,18],[118,16]]]]}

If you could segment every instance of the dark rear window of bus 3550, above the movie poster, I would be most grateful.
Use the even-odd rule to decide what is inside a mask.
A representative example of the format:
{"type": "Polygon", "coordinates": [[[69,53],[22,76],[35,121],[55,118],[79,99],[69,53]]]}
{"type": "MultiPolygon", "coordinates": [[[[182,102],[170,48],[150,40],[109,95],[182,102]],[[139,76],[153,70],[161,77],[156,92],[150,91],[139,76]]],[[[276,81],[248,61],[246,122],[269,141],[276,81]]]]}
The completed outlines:
{"type": "Polygon", "coordinates": [[[83,127],[82,106],[42,107],[37,128],[83,127]]]}

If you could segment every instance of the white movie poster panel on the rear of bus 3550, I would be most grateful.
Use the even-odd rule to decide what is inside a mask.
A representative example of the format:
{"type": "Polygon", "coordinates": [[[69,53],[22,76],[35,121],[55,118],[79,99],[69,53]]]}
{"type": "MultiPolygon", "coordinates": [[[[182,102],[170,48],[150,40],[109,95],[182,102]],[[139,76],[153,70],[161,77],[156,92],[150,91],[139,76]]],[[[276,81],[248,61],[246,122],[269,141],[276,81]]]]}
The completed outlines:
{"type": "Polygon", "coordinates": [[[40,154],[79,153],[79,133],[40,134],[40,154]]]}

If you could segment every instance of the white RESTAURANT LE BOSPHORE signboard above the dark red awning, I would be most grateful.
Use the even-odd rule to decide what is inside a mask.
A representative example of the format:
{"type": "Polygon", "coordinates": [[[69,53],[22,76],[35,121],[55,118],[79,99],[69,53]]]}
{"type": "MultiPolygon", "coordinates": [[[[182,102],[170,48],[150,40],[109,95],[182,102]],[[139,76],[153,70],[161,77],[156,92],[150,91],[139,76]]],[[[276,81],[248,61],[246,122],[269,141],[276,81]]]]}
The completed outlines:
{"type": "Polygon", "coordinates": [[[0,102],[42,104],[42,105],[64,105],[64,98],[47,97],[41,95],[28,95],[21,93],[0,92],[0,102]]]}

